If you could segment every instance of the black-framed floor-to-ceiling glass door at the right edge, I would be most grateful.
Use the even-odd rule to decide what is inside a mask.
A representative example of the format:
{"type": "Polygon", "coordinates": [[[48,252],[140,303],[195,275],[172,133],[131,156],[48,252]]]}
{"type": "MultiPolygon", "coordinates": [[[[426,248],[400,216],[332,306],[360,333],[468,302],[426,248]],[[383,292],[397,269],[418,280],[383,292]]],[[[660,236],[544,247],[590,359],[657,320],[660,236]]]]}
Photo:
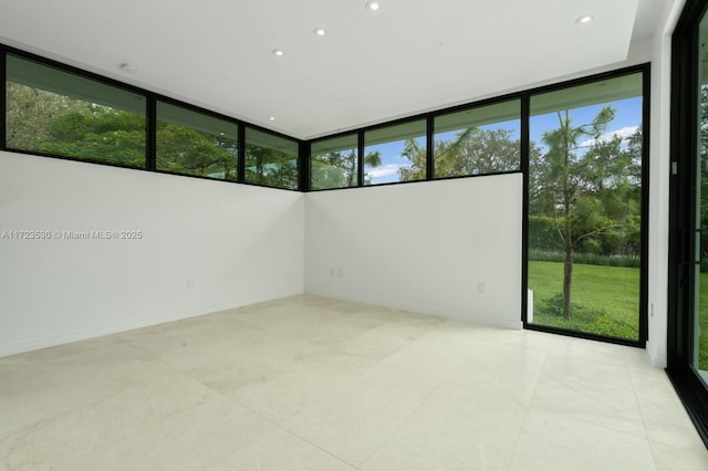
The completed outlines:
{"type": "Polygon", "coordinates": [[[668,373],[708,443],[708,9],[673,38],[668,373]]]}

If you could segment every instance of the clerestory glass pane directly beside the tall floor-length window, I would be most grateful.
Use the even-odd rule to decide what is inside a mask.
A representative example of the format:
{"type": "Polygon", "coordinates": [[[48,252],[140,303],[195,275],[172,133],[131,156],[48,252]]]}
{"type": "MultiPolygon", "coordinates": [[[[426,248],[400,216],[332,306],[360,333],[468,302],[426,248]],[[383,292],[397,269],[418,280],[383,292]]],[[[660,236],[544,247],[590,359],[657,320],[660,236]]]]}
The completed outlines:
{"type": "Polygon", "coordinates": [[[435,178],[516,171],[521,159],[521,102],[435,118],[435,178]]]}

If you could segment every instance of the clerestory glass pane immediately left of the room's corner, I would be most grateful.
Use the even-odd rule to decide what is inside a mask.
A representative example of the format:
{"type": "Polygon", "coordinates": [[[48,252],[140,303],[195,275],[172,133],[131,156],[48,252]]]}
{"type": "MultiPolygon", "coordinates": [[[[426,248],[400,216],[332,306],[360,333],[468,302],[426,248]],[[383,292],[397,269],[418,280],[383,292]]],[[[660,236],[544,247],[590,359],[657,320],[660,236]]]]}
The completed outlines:
{"type": "Polygon", "coordinates": [[[277,188],[298,188],[298,143],[246,128],[246,181],[277,188]]]}

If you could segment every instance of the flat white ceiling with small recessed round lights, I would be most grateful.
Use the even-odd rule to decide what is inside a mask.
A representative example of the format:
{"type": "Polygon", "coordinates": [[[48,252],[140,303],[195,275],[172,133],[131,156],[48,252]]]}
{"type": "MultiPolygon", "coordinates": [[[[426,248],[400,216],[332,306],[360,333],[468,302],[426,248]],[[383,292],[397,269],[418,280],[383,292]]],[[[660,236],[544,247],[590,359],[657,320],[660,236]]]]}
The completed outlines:
{"type": "Polygon", "coordinates": [[[673,0],[365,2],[0,0],[0,42],[311,138],[621,62],[673,0]]]}

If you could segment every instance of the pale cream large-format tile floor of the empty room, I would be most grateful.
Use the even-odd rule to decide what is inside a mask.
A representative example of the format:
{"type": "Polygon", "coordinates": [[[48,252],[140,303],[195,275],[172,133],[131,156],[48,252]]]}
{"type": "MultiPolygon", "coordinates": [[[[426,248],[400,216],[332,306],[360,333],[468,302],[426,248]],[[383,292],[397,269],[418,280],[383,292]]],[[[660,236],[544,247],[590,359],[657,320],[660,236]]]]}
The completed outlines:
{"type": "Polygon", "coordinates": [[[644,350],[302,295],[0,358],[0,470],[708,470],[644,350]]]}

